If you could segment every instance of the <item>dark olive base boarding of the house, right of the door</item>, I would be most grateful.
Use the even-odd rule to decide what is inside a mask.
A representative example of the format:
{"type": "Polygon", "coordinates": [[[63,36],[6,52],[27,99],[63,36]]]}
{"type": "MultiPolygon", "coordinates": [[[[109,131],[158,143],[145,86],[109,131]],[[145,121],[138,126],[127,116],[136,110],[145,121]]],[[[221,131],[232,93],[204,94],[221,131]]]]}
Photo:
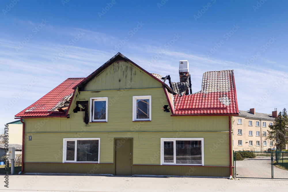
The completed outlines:
{"type": "Polygon", "coordinates": [[[137,165],[132,167],[133,175],[183,175],[183,176],[214,176],[229,177],[229,167],[203,166],[149,166],[137,165]]]}

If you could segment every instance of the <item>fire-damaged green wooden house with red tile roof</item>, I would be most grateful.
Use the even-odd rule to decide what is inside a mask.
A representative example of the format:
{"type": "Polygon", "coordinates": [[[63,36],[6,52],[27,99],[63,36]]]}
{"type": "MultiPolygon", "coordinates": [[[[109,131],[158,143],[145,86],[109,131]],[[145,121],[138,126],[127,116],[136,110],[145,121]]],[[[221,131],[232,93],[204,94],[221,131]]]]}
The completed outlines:
{"type": "Polygon", "coordinates": [[[16,115],[22,171],[232,175],[233,71],[204,73],[191,94],[188,66],[179,62],[173,83],[118,53],[88,77],[68,78],[16,115]]]}

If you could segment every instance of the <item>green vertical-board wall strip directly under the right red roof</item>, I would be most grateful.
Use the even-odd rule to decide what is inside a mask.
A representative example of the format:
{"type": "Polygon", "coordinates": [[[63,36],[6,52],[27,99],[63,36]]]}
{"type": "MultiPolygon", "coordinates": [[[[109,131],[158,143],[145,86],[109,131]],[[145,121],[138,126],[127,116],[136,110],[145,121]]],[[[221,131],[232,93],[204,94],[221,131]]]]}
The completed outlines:
{"type": "Polygon", "coordinates": [[[229,131],[227,116],[173,117],[174,131],[229,131]]]}

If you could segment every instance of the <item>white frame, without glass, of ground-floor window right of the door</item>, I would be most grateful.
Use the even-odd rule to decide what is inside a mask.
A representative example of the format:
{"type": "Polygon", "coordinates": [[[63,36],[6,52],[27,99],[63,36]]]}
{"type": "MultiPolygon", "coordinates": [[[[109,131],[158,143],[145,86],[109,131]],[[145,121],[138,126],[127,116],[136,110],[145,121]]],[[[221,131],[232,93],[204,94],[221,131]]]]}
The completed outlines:
{"type": "Polygon", "coordinates": [[[161,138],[160,144],[160,165],[201,165],[204,166],[204,138],[161,138]],[[183,140],[183,141],[199,141],[201,140],[201,160],[202,164],[176,164],[176,140],[183,140]],[[164,141],[173,141],[173,163],[164,163],[164,141]]]}

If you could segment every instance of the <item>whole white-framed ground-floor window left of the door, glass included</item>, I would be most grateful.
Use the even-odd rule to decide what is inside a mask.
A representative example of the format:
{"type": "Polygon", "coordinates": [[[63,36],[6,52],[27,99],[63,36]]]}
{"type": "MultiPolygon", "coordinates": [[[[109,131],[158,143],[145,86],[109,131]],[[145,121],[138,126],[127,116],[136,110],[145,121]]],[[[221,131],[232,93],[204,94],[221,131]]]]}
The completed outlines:
{"type": "Polygon", "coordinates": [[[100,138],[63,138],[63,163],[99,163],[100,138]]]}

